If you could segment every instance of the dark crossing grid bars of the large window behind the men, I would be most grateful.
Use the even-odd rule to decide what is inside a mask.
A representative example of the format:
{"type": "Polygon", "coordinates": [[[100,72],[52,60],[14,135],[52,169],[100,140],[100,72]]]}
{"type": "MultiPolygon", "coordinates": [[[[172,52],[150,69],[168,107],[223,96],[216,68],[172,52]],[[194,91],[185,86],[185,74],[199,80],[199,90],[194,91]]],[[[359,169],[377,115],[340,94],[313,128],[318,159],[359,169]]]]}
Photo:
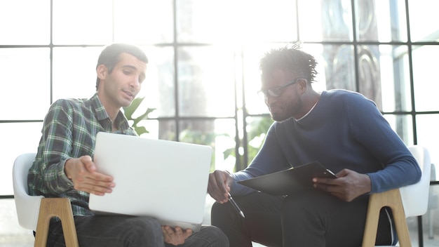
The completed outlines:
{"type": "MultiPolygon", "coordinates": [[[[178,70],[178,53],[177,51],[182,48],[182,47],[187,47],[187,46],[210,46],[210,44],[196,44],[196,43],[179,43],[177,41],[177,10],[175,8],[176,0],[173,1],[173,43],[172,44],[168,44],[168,43],[157,43],[157,44],[153,44],[153,46],[157,46],[157,47],[172,47],[173,51],[174,51],[174,62],[173,62],[173,69],[175,71],[175,77],[174,77],[174,86],[175,86],[175,92],[174,92],[174,97],[175,99],[178,99],[179,96],[179,86],[178,86],[178,79],[179,79],[179,70],[178,70]]],[[[114,5],[114,1],[112,1],[112,4],[114,5]]],[[[296,11],[297,13],[299,13],[299,4],[298,1],[296,3],[296,11]]],[[[353,27],[356,27],[356,1],[355,0],[351,0],[351,18],[352,18],[352,25],[353,27]]],[[[356,84],[356,88],[358,91],[358,88],[360,88],[360,79],[358,78],[359,73],[358,73],[358,46],[361,45],[370,45],[370,46],[380,46],[380,45],[390,45],[390,46],[407,46],[407,55],[408,55],[408,62],[409,62],[409,74],[410,74],[410,105],[411,105],[411,110],[410,111],[393,111],[393,112],[382,112],[384,115],[410,115],[411,119],[412,119],[412,133],[413,133],[413,140],[414,140],[414,144],[417,144],[417,121],[416,121],[416,117],[418,115],[422,115],[422,114],[439,114],[439,110],[437,111],[417,111],[416,109],[416,105],[415,105],[415,95],[414,95],[414,78],[413,78],[413,61],[412,61],[412,46],[438,46],[438,42],[435,41],[411,41],[410,39],[410,16],[409,16],[409,0],[405,1],[405,9],[406,9],[406,22],[407,22],[407,41],[386,41],[386,42],[380,42],[380,41],[358,41],[357,39],[357,30],[356,28],[353,28],[353,41],[304,41],[304,44],[320,44],[320,45],[335,45],[335,46],[340,46],[340,45],[351,45],[353,46],[353,58],[354,58],[354,67],[356,70],[355,73],[355,84],[356,84]]],[[[297,37],[300,38],[300,27],[299,27],[299,15],[296,13],[296,23],[297,23],[297,37]]],[[[114,23],[113,23],[114,25],[114,23]]],[[[113,30],[114,31],[114,30],[113,30]]],[[[114,32],[113,32],[113,39],[114,39],[114,32]]],[[[50,1],[50,44],[48,45],[1,45],[0,44],[0,49],[2,48],[50,48],[50,104],[53,102],[53,48],[63,48],[63,47],[100,47],[103,46],[104,44],[90,44],[90,45],[65,45],[65,44],[53,44],[53,0],[50,1]]],[[[243,51],[238,51],[239,53],[243,53],[243,51]]],[[[243,76],[244,77],[244,76],[243,76]]],[[[245,81],[245,78],[242,78],[242,81],[245,81]]],[[[235,125],[235,132],[236,132],[236,147],[235,147],[235,152],[238,153],[239,152],[239,147],[242,147],[244,150],[244,154],[243,154],[243,161],[240,161],[239,159],[237,159],[237,163],[236,166],[239,169],[244,168],[245,164],[247,164],[249,162],[248,159],[248,145],[245,145],[245,143],[248,143],[248,133],[247,131],[245,131],[245,129],[248,126],[248,123],[245,119],[247,119],[247,117],[252,117],[252,116],[264,116],[264,117],[269,117],[269,114],[249,114],[247,111],[247,108],[245,107],[246,102],[245,102],[245,89],[244,86],[241,82],[239,81],[235,81],[234,82],[234,87],[238,88],[238,87],[242,87],[242,95],[240,96],[240,98],[242,99],[242,102],[238,102],[238,97],[236,95],[237,91],[235,90],[235,110],[234,110],[234,116],[231,117],[202,117],[202,116],[196,116],[196,117],[191,117],[191,116],[181,116],[180,115],[180,107],[179,107],[179,100],[175,100],[175,116],[174,117],[157,117],[154,118],[158,121],[175,121],[175,136],[176,136],[176,140],[179,140],[179,136],[180,133],[182,131],[182,129],[180,129],[180,122],[181,121],[187,121],[187,120],[215,120],[215,119],[234,119],[234,121],[236,121],[236,125],[235,125]],[[243,105],[243,110],[239,111],[238,110],[238,105],[243,105]],[[241,116],[238,116],[241,113],[241,116]],[[240,121],[241,119],[241,126],[242,128],[239,128],[238,125],[238,121],[240,121]],[[239,136],[242,135],[243,139],[240,140],[239,136]],[[240,163],[242,162],[242,163],[240,163]]],[[[33,123],[33,122],[42,122],[42,119],[27,119],[27,120],[17,120],[17,119],[5,119],[5,120],[0,120],[0,124],[2,123],[33,123]]],[[[11,195],[6,195],[8,196],[8,198],[11,197],[11,195]]]]}

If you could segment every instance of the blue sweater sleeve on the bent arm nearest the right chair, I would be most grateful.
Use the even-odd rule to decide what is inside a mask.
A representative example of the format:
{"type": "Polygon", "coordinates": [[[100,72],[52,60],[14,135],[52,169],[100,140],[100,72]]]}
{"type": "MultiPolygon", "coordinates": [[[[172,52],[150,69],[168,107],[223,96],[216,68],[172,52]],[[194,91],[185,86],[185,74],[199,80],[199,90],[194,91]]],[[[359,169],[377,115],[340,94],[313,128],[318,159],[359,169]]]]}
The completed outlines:
{"type": "Polygon", "coordinates": [[[407,146],[384,119],[374,102],[353,94],[345,102],[349,128],[354,138],[377,158],[383,169],[367,173],[371,193],[412,185],[421,178],[421,170],[407,146]]]}

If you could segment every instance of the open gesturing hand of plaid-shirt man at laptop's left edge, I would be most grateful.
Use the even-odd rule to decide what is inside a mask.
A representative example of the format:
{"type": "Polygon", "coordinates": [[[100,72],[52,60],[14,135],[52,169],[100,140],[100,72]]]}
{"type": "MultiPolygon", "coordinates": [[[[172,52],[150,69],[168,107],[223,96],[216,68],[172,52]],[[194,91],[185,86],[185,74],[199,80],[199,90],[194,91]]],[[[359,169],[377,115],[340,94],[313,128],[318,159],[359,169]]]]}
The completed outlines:
{"type": "Polygon", "coordinates": [[[90,156],[68,159],[64,172],[72,180],[74,188],[90,194],[103,196],[114,188],[113,178],[96,171],[95,163],[90,156]]]}

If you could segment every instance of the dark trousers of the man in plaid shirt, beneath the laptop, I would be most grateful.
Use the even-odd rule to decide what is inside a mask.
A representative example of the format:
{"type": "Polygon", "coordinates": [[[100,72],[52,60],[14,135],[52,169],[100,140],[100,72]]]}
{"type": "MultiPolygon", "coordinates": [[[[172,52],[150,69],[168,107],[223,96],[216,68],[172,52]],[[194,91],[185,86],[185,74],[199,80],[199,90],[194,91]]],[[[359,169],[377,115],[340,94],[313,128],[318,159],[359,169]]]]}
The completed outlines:
{"type": "MultiPolygon", "coordinates": [[[[173,246],[163,242],[158,221],[133,216],[76,216],[79,246],[173,246]]],[[[65,246],[61,222],[50,224],[47,246],[65,246]]],[[[217,227],[203,226],[186,240],[184,247],[229,246],[227,236],[217,227]]]]}

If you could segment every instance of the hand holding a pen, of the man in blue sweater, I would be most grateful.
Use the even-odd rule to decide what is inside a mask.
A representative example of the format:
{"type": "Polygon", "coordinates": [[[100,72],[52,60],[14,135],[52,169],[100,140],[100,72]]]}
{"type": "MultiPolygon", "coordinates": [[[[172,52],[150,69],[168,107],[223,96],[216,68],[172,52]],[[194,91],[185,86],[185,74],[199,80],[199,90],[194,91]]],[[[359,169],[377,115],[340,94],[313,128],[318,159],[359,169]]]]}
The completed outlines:
{"type": "Polygon", "coordinates": [[[208,192],[215,201],[226,203],[229,201],[230,185],[234,178],[226,171],[214,171],[209,174],[208,192]]]}

